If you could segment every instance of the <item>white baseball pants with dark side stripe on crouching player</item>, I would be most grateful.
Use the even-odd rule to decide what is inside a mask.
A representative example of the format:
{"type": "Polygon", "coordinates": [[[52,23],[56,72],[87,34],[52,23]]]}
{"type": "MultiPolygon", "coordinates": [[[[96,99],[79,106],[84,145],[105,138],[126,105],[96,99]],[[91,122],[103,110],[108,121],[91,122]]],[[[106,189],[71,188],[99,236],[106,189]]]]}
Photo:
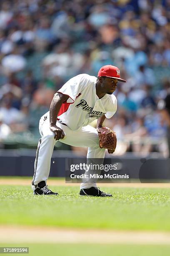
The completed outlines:
{"type": "MultiPolygon", "coordinates": [[[[47,115],[46,115],[47,116],[47,115]]],[[[66,136],[60,142],[70,146],[88,147],[87,159],[104,159],[105,148],[99,147],[99,137],[97,130],[90,125],[79,128],[72,131],[68,126],[62,125],[60,121],[57,121],[56,125],[60,127],[66,136]]],[[[44,120],[44,116],[40,119],[39,131],[41,138],[37,146],[37,153],[34,164],[34,176],[32,179],[32,189],[35,189],[35,185],[41,181],[45,181],[50,173],[50,164],[52,152],[54,149],[55,141],[54,133],[50,131],[50,119],[49,115],[44,120]]],[[[96,183],[89,183],[88,179],[84,179],[80,184],[80,189],[97,187],[96,183]]]]}

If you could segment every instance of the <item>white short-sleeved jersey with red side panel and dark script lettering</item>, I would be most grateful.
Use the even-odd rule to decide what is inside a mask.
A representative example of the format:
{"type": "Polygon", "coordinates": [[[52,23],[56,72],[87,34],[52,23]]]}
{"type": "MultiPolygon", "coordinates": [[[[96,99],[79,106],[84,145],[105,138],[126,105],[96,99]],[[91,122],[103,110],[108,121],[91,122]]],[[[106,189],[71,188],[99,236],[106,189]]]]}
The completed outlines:
{"type": "Polygon", "coordinates": [[[115,114],[117,110],[115,95],[105,94],[99,99],[96,95],[96,82],[96,77],[79,74],[58,90],[69,96],[57,115],[59,122],[65,123],[71,130],[77,130],[102,115],[111,118],[115,114]]]}

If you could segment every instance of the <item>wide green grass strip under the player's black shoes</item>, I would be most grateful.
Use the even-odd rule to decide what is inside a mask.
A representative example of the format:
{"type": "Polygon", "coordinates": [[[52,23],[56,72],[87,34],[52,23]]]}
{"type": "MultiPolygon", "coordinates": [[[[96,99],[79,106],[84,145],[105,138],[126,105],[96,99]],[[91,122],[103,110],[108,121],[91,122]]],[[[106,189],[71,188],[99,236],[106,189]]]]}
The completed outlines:
{"type": "Polygon", "coordinates": [[[170,231],[170,189],[103,187],[113,197],[98,198],[80,197],[79,187],[50,188],[60,195],[34,196],[29,186],[1,185],[0,224],[170,231]]]}

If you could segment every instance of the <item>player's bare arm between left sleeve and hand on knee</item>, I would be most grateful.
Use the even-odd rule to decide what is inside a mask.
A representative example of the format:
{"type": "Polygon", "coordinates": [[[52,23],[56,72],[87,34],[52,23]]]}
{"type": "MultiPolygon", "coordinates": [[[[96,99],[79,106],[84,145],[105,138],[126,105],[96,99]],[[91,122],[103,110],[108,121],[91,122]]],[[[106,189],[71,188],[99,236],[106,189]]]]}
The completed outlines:
{"type": "Polygon", "coordinates": [[[67,95],[55,93],[50,105],[50,125],[55,125],[57,122],[57,115],[62,103],[68,99],[67,95]]]}

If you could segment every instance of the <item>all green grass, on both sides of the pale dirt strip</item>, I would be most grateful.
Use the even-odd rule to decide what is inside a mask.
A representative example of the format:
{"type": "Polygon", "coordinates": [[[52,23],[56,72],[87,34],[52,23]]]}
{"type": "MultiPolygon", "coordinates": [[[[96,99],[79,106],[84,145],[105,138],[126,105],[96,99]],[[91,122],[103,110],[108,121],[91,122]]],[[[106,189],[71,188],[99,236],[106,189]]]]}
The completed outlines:
{"type": "MultiPolygon", "coordinates": [[[[104,185],[104,184],[103,184],[104,185]]],[[[80,197],[79,187],[50,186],[58,196],[34,196],[30,186],[0,185],[0,225],[170,232],[170,189],[101,187],[112,198],[80,197]]],[[[29,255],[168,256],[170,245],[20,244],[29,255]]]]}

